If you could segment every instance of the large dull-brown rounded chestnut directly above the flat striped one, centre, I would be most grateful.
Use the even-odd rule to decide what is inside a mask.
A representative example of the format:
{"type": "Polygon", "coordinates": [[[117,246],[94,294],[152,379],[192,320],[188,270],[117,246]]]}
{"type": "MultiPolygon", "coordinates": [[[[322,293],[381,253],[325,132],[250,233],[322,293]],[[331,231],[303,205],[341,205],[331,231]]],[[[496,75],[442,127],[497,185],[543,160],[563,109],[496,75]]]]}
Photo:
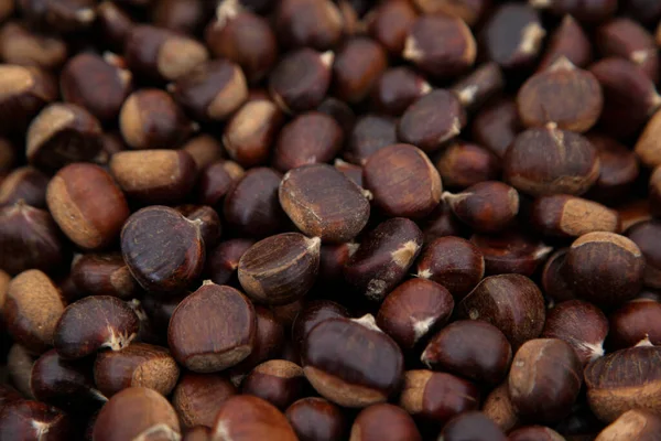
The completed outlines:
{"type": "Polygon", "coordinates": [[[366,194],[327,164],[289,171],[280,183],[279,197],[280,205],[301,232],[326,241],[351,240],[369,219],[366,194]]]}

